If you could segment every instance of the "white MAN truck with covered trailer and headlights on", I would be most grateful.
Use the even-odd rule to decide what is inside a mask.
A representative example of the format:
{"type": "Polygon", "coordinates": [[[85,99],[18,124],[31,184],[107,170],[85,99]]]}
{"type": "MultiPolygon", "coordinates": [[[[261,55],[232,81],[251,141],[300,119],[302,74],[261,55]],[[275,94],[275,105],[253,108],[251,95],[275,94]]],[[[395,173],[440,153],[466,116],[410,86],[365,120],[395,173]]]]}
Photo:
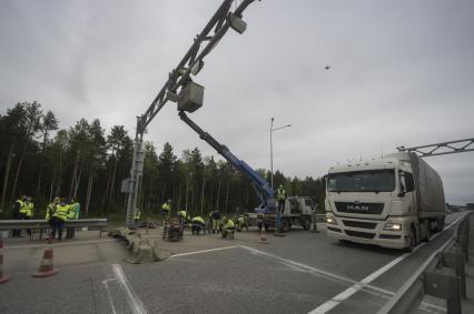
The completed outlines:
{"type": "Polygon", "coordinates": [[[443,182],[415,153],[335,165],[326,181],[329,236],[413,250],[444,227],[443,182]]]}

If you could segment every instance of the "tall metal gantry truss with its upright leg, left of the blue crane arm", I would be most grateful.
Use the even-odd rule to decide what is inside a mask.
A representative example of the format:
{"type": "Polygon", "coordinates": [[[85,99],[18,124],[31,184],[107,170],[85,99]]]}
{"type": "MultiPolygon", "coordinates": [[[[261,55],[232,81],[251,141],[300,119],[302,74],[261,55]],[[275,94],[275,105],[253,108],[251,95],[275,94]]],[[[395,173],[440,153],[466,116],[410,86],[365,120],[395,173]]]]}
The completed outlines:
{"type": "Polygon", "coordinates": [[[158,92],[147,111],[137,117],[137,131],[135,136],[135,149],[132,165],[130,170],[130,179],[122,184],[122,191],[128,193],[127,196],[127,216],[126,224],[131,225],[135,212],[137,210],[137,195],[144,169],[144,134],[148,124],[168,102],[176,102],[179,92],[191,81],[191,75],[197,75],[204,67],[204,58],[213,51],[219,40],[226,34],[229,28],[238,33],[243,33],[246,23],[241,20],[244,10],[255,0],[224,0],[213,18],[196,36],[189,50],[178,63],[178,65],[169,73],[169,78],[165,85],[158,92]],[[234,3],[234,6],[233,6],[234,3]],[[231,11],[233,7],[235,8],[231,11]]]}

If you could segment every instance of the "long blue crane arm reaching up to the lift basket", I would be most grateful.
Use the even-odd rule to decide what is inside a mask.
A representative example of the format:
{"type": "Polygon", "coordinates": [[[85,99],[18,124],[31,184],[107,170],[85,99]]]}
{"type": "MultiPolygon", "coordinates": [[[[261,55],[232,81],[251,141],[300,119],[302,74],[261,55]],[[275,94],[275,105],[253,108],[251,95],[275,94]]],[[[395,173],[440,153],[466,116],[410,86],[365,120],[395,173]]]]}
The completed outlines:
{"type": "Polygon", "coordinates": [[[220,144],[209,133],[199,128],[184,111],[179,111],[179,118],[188,124],[199,138],[211,145],[223,158],[225,158],[235,169],[250,180],[251,185],[255,188],[258,197],[261,201],[259,210],[263,212],[271,212],[275,210],[275,202],[273,196],[275,191],[261,175],[251,169],[245,161],[238,159],[233,154],[226,145],[220,144]]]}

